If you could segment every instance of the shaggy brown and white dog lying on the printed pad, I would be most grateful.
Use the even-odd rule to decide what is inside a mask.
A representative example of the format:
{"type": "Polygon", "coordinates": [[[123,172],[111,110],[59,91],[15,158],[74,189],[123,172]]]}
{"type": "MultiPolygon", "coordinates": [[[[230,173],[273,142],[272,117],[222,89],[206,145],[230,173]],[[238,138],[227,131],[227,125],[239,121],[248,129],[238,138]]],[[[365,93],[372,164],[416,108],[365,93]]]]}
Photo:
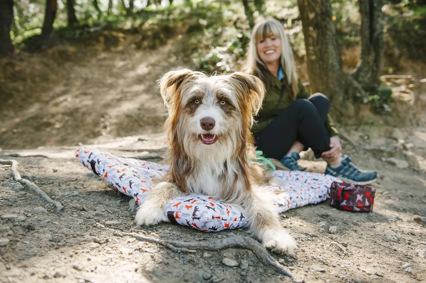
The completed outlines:
{"type": "Polygon", "coordinates": [[[265,194],[252,187],[264,171],[248,161],[253,147],[253,115],[265,87],[256,76],[233,73],[210,76],[183,69],[160,80],[169,116],[164,124],[170,142],[170,170],[147,195],[135,221],[153,225],[166,221],[163,211],[173,196],[210,195],[242,207],[250,232],[278,254],[292,254],[293,238],[279,224],[265,194]]]}

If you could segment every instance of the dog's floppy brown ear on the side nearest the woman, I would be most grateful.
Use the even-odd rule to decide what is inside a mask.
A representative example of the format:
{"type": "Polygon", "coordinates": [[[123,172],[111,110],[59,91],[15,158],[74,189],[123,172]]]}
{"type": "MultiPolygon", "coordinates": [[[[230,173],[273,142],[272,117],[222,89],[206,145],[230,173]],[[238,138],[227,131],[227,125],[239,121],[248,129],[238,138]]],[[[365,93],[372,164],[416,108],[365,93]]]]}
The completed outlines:
{"type": "Polygon", "coordinates": [[[265,97],[265,85],[257,76],[235,72],[230,75],[232,85],[242,97],[243,105],[248,106],[251,115],[256,115],[262,108],[265,97]]]}

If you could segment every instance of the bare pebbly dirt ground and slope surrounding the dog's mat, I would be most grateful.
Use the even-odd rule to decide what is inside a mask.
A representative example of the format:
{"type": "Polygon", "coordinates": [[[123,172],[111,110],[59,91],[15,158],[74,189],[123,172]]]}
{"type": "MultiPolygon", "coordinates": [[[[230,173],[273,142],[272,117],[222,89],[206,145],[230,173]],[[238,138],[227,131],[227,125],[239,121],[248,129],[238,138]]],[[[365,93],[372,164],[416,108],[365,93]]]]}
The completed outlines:
{"type": "MultiPolygon", "coordinates": [[[[340,211],[325,201],[285,212],[280,221],[298,247],[294,256],[273,257],[292,278],[244,249],[176,253],[123,237],[135,227],[130,198],[90,173],[73,151],[84,146],[137,157],[164,150],[166,112],[155,80],[183,62],[191,67],[172,52],[178,40],[155,51],[97,43],[86,59],[66,63],[69,76],[58,74],[37,99],[2,111],[0,158],[19,161],[21,175],[65,209],[55,214],[33,192],[11,185],[10,166],[0,165],[0,282],[426,282],[424,121],[340,128],[356,144],[344,143],[345,153],[380,176],[374,211],[340,211]],[[239,265],[227,266],[224,258],[239,265]]],[[[424,88],[414,91],[425,97],[424,88]]],[[[325,169],[324,161],[301,164],[325,169]]],[[[247,235],[169,223],[141,229],[179,241],[247,235]]]]}

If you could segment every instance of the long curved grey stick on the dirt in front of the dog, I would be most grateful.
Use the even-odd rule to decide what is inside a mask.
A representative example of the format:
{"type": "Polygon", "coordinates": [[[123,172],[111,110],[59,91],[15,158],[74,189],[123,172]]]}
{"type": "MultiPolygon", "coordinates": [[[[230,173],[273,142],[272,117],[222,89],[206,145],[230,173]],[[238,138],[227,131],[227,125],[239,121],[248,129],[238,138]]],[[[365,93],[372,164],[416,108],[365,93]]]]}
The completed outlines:
{"type": "Polygon", "coordinates": [[[205,251],[218,251],[221,249],[249,249],[256,255],[256,257],[265,264],[272,266],[273,269],[281,273],[282,275],[286,275],[291,277],[291,274],[285,270],[282,265],[276,261],[269,252],[256,240],[250,237],[230,237],[214,242],[180,242],[180,241],[167,241],[167,240],[158,240],[155,238],[136,235],[133,233],[122,233],[123,236],[129,236],[135,238],[138,241],[144,241],[149,243],[157,243],[162,246],[165,246],[173,252],[190,252],[194,253],[196,250],[205,250],[205,251]]]}

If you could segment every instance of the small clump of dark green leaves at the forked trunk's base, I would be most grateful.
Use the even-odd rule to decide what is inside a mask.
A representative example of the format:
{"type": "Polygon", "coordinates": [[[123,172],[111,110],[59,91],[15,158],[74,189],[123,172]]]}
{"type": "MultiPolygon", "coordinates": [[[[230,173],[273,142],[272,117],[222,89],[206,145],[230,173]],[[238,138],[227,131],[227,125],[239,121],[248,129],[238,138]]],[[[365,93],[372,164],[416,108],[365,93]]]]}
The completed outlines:
{"type": "Polygon", "coordinates": [[[391,112],[390,103],[393,102],[392,90],[390,88],[380,88],[379,85],[363,86],[367,96],[364,103],[370,103],[377,112],[391,112]]]}

